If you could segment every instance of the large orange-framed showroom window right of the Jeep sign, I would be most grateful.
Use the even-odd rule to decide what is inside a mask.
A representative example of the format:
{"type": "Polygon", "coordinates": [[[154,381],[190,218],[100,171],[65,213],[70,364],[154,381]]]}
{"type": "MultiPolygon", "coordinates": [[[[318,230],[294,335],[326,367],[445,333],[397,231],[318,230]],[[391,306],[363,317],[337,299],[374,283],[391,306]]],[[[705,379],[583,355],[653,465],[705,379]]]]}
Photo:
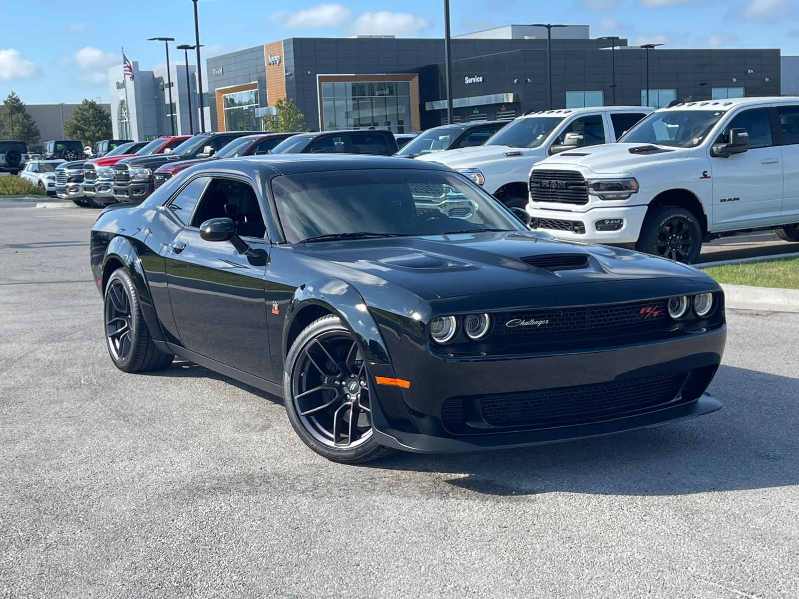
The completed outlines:
{"type": "Polygon", "coordinates": [[[410,132],[409,81],[323,81],[322,121],[326,131],[377,127],[410,132]]]}

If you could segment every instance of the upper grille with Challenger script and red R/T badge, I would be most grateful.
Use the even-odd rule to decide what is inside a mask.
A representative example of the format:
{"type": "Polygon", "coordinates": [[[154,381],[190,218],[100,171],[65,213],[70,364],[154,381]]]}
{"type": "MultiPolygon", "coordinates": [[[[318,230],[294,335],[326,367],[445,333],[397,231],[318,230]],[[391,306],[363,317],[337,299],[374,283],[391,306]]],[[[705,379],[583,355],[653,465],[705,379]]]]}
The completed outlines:
{"type": "MultiPolygon", "coordinates": [[[[494,315],[492,338],[529,335],[531,339],[566,335],[594,335],[613,331],[615,336],[671,327],[666,311],[668,299],[614,303],[604,306],[550,307],[523,312],[498,312],[494,315]]],[[[603,335],[607,337],[607,335],[603,335]]]]}

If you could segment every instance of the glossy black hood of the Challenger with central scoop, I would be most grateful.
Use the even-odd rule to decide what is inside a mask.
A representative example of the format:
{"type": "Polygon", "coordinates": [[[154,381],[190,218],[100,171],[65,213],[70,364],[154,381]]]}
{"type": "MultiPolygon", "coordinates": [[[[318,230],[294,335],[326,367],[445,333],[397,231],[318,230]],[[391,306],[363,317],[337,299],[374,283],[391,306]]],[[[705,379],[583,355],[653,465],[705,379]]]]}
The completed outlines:
{"type": "MultiPolygon", "coordinates": [[[[423,300],[622,280],[664,280],[658,286],[668,291],[655,294],[661,296],[676,293],[669,281],[680,279],[698,278],[718,288],[709,276],[685,264],[621,248],[558,240],[537,232],[317,242],[297,248],[325,264],[343,267],[348,274],[339,274],[341,278],[357,281],[353,272],[368,273],[370,281],[400,285],[423,300]],[[589,266],[549,272],[521,260],[549,254],[587,254],[589,266]]],[[[329,269],[328,274],[336,270],[329,269]]],[[[530,292],[525,295],[531,299],[530,292]]]]}

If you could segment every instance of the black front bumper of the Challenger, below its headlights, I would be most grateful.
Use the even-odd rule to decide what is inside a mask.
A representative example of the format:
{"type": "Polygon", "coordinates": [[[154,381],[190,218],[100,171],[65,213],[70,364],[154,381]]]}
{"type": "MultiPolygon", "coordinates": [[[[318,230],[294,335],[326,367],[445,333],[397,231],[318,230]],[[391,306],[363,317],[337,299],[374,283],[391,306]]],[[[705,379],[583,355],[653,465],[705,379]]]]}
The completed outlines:
{"type": "MultiPolygon", "coordinates": [[[[722,326],[678,339],[551,355],[442,359],[429,351],[416,351],[414,355],[400,352],[404,359],[395,360],[392,367],[375,364],[370,368],[373,375],[411,382],[410,387],[401,390],[376,385],[378,402],[372,407],[376,439],[401,450],[447,453],[598,437],[708,414],[721,408],[721,403],[702,391],[721,363],[725,339],[726,328],[722,326]],[[392,374],[384,369],[391,369],[392,374]],[[691,373],[702,375],[697,375],[700,387],[690,387],[690,381],[696,380],[690,378],[691,373]],[[597,407],[597,389],[630,387],[669,377],[676,385],[673,396],[654,401],[644,398],[622,407],[617,397],[613,409],[597,407]],[[594,390],[594,397],[588,409],[583,403],[588,400],[580,391],[590,389],[594,390]],[[573,395],[567,392],[571,390],[575,390],[573,395]],[[565,402],[566,410],[557,418],[536,421],[528,417],[519,422],[508,419],[498,425],[481,408],[484,398],[496,402],[498,397],[507,397],[517,402],[512,414],[518,408],[519,395],[539,401],[544,412],[548,409],[547,400],[535,398],[555,396],[559,399],[552,401],[565,402]],[[449,411],[452,400],[462,398],[466,412],[471,406],[471,414],[464,413],[463,419],[453,424],[449,411]],[[572,407],[573,412],[569,413],[572,407]]],[[[646,393],[638,393],[637,397],[643,395],[646,393]]],[[[609,392],[608,401],[611,399],[609,392]]],[[[495,407],[496,403],[492,405],[495,407]]]]}

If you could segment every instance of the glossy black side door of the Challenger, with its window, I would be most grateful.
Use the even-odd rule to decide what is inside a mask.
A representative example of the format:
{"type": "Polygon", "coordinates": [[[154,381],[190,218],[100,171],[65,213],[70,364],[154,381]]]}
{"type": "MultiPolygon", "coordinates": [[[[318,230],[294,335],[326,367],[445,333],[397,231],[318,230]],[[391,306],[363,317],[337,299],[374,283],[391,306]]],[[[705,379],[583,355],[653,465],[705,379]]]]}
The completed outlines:
{"type": "MultiPolygon", "coordinates": [[[[181,208],[183,208],[181,206],[181,208]]],[[[263,379],[272,379],[264,300],[269,242],[252,185],[211,177],[188,224],[165,250],[169,300],[181,342],[189,350],[263,379]],[[199,225],[231,217],[256,256],[229,241],[205,241],[199,225]]]]}

